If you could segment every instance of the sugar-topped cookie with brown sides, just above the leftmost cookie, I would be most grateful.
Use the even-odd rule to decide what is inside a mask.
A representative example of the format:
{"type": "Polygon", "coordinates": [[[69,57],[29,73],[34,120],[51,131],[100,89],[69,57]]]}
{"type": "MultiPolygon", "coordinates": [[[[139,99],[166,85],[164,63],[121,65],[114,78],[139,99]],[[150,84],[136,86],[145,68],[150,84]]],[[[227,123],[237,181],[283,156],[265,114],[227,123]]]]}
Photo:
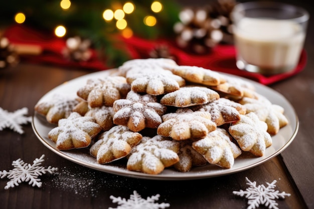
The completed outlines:
{"type": "Polygon", "coordinates": [[[77,95],[88,102],[90,107],[111,106],[115,100],[125,98],[130,85],[122,76],[89,79],[77,91],[77,95]]]}

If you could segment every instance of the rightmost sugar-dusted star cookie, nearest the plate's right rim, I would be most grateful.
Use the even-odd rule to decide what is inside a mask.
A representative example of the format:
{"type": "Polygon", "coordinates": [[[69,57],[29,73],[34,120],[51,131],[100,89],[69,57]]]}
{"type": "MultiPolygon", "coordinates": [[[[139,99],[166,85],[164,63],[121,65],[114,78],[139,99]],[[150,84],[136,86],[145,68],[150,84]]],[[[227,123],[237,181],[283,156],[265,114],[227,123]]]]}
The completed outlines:
{"type": "Polygon", "coordinates": [[[288,124],[287,118],[283,115],[283,107],[272,104],[258,93],[255,95],[255,98],[242,98],[239,103],[246,108],[247,113],[254,112],[261,121],[267,124],[269,134],[277,134],[280,128],[288,124]]]}

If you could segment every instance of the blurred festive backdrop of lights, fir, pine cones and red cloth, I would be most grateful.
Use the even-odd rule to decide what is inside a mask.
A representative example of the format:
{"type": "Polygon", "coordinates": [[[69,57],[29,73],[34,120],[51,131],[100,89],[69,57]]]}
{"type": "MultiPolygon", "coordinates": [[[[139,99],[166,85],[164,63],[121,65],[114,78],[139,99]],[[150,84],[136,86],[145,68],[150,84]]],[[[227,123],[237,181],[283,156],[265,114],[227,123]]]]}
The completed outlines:
{"type": "MultiPolygon", "coordinates": [[[[0,68],[21,60],[96,70],[134,58],[204,56],[233,45],[235,0],[12,0],[0,7],[0,68]]],[[[313,14],[308,1],[279,1],[313,14]]],[[[307,36],[313,36],[312,20],[307,36]]],[[[305,50],[313,43],[306,40],[305,50]]]]}

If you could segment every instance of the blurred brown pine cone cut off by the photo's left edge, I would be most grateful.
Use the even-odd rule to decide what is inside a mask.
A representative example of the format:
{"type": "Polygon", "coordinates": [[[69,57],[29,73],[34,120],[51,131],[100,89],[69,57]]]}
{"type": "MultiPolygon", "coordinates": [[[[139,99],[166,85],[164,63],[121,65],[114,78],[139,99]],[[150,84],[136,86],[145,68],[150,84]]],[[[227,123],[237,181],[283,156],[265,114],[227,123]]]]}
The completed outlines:
{"type": "Polygon", "coordinates": [[[19,63],[19,56],[8,38],[0,36],[0,69],[19,63]]]}

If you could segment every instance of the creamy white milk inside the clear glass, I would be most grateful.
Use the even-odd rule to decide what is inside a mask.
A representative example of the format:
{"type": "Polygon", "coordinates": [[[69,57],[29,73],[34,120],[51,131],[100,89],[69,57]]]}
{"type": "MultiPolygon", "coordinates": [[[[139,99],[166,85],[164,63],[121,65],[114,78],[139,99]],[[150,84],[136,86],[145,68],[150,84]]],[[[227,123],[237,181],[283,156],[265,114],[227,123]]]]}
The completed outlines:
{"type": "Polygon", "coordinates": [[[243,18],[234,34],[238,59],[268,74],[293,69],[305,39],[301,26],[289,20],[243,18]]]}

